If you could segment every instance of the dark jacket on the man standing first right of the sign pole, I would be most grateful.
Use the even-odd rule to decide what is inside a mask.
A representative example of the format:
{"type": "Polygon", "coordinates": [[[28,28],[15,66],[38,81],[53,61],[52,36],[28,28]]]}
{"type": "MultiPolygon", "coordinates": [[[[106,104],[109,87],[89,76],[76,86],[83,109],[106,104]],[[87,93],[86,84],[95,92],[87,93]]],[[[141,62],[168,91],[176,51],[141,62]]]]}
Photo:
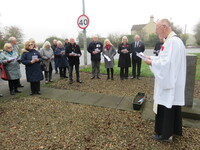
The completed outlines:
{"type": "Polygon", "coordinates": [[[101,52],[97,54],[93,54],[92,52],[98,49],[102,52],[103,44],[101,42],[91,42],[88,46],[88,52],[91,54],[92,61],[100,61],[101,60],[101,52]]]}

